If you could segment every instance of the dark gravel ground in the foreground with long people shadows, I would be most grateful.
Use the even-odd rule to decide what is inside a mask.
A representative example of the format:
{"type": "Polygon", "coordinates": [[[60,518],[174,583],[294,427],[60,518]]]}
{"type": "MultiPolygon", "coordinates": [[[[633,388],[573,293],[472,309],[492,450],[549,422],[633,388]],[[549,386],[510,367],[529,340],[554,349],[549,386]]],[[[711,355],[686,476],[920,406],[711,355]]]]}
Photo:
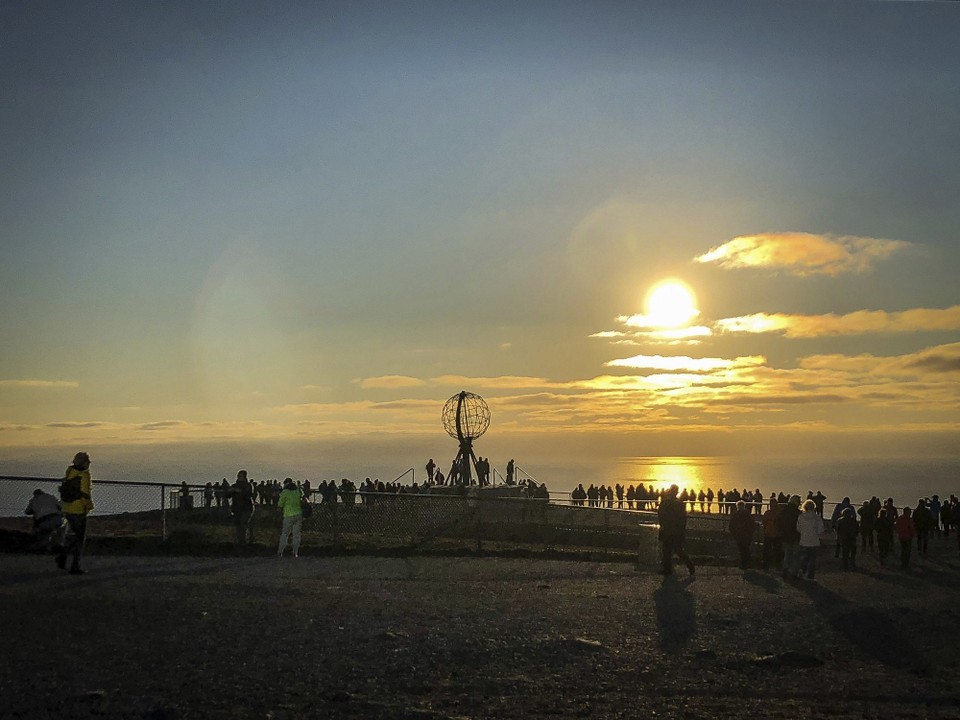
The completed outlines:
{"type": "Polygon", "coordinates": [[[0,554],[0,717],[957,718],[939,542],[909,573],[824,548],[815,582],[490,557],[100,556],[78,577],[0,554]]]}

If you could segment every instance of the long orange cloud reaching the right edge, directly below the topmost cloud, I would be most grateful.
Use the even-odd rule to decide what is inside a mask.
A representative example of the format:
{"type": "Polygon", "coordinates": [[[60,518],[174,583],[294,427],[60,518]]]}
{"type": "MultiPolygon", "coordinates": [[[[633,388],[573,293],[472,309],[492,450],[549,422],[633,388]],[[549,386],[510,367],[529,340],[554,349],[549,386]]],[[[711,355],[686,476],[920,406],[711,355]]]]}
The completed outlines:
{"type": "Polygon", "coordinates": [[[884,310],[858,310],[847,315],[756,313],[718,320],[716,327],[726,333],[759,334],[782,331],[789,338],[945,331],[960,328],[960,305],[945,309],[916,308],[893,313],[884,310]]]}

